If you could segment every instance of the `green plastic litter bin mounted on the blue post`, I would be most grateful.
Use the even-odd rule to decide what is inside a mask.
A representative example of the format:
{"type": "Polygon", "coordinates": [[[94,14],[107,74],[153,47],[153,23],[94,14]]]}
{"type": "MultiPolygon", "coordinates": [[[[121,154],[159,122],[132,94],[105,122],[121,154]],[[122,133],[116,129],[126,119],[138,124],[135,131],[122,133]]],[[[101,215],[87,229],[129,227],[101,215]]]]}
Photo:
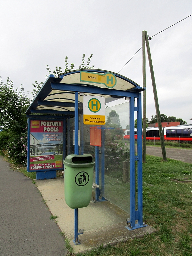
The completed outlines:
{"type": "Polygon", "coordinates": [[[72,208],[86,207],[92,196],[93,166],[90,154],[68,155],[65,165],[65,202],[72,208]]]}

